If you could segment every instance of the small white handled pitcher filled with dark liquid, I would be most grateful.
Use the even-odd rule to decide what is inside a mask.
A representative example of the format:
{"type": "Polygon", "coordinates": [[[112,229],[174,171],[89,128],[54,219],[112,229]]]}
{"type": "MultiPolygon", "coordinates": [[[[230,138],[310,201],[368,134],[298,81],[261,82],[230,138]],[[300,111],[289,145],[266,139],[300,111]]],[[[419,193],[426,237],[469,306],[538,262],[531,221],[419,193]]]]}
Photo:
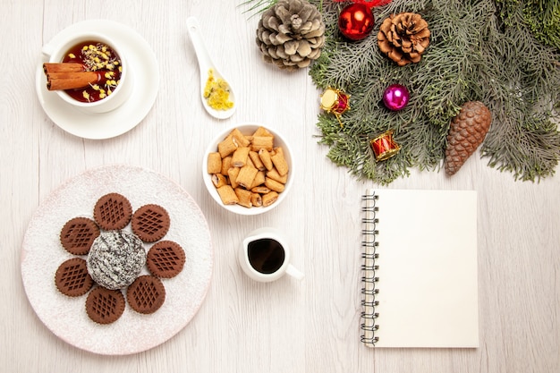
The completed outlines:
{"type": "Polygon", "coordinates": [[[259,228],[243,239],[239,264],[247,276],[267,283],[289,275],[301,280],[303,274],[290,264],[290,246],[275,228],[259,228]]]}

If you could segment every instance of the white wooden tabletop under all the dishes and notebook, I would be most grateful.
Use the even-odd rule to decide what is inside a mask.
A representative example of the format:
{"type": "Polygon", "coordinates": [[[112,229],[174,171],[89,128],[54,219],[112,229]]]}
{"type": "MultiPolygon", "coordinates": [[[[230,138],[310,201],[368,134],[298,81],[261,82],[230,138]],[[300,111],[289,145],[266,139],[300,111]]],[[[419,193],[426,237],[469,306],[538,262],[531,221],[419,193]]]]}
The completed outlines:
{"type": "Polygon", "coordinates": [[[0,369],[4,372],[557,372],[560,370],[560,177],[514,182],[471,157],[453,178],[413,173],[391,188],[478,191],[479,335],[476,350],[370,350],[360,343],[361,192],[325,156],[315,126],[320,92],[307,71],[261,61],[259,17],[232,1],[4,1],[0,22],[0,369]],[[196,15],[216,62],[237,89],[238,109],[216,121],[199,102],[199,70],[185,19],[196,15]],[[122,136],[83,140],[38,103],[43,43],[77,21],[108,19],[137,30],[157,55],[161,84],[148,116],[122,136]],[[256,121],[286,134],[300,174],[284,203],[262,216],[219,208],[200,179],[207,142],[256,121]],[[147,352],[105,357],[53,335],[21,283],[21,243],[39,203],[97,165],[141,165],[178,182],[208,219],[214,275],[198,314],[147,352]],[[301,282],[257,284],[236,250],[260,226],[290,233],[301,282]]]}

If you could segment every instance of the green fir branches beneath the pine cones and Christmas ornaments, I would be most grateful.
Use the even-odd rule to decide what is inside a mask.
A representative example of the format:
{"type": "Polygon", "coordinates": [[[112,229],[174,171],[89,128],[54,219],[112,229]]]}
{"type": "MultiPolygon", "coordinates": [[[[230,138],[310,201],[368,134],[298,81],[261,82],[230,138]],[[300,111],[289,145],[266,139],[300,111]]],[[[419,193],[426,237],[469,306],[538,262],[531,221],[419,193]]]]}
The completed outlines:
{"type": "Polygon", "coordinates": [[[332,115],[319,116],[319,142],[330,147],[327,157],[358,178],[384,184],[408,175],[412,166],[437,169],[451,119],[464,102],[481,100],[493,113],[481,152],[488,165],[521,180],[554,174],[560,152],[553,111],[560,106],[560,52],[543,45],[520,21],[525,13],[516,3],[394,0],[375,9],[369,38],[347,42],[336,25],[341,4],[325,2],[327,44],[310,76],[319,88],[351,95],[344,127],[332,115]],[[419,64],[398,67],[378,52],[376,36],[386,16],[402,12],[420,13],[432,36],[419,64]],[[398,113],[380,103],[394,82],[411,91],[409,106],[398,113]],[[369,140],[389,128],[402,150],[376,162],[369,140]]]}

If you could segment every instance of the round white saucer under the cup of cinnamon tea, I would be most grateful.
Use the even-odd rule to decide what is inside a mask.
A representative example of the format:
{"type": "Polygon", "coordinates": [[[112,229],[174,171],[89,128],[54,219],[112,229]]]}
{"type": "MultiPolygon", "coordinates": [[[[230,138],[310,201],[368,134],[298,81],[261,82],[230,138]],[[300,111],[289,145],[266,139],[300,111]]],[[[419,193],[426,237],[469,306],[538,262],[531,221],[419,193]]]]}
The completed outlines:
{"type": "Polygon", "coordinates": [[[115,110],[103,114],[85,114],[69,107],[55,92],[47,90],[47,78],[43,72],[43,62],[38,64],[35,88],[38,100],[48,117],[64,131],[84,139],[109,139],[132,130],[148,114],[154,105],[159,89],[159,68],[156,55],[148,42],[135,30],[106,20],[81,21],[60,31],[57,38],[63,38],[77,30],[103,30],[115,41],[122,44],[123,54],[129,65],[129,73],[134,76],[131,97],[115,110]]]}

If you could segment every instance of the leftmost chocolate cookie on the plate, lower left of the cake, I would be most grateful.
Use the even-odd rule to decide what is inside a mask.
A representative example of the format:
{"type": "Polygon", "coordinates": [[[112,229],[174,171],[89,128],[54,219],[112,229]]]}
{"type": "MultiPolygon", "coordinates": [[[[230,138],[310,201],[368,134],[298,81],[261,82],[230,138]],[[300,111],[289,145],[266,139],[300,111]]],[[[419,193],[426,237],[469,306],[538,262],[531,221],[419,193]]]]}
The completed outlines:
{"type": "Polygon", "coordinates": [[[89,292],[93,279],[89,276],[86,261],[72,258],[64,261],[55,273],[56,288],[64,295],[78,297],[89,292]]]}

